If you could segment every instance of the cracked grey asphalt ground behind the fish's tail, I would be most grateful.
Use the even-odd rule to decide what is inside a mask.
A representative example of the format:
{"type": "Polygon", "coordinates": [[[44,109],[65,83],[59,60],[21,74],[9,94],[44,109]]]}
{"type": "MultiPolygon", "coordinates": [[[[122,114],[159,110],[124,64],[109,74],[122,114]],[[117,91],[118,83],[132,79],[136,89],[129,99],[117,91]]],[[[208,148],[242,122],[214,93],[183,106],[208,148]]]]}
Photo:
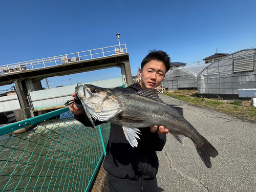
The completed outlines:
{"type": "Polygon", "coordinates": [[[184,118],[219,152],[207,168],[193,142],[182,146],[167,134],[163,151],[157,152],[159,191],[256,191],[256,123],[198,108],[160,94],[168,104],[184,109],[184,118]]]}

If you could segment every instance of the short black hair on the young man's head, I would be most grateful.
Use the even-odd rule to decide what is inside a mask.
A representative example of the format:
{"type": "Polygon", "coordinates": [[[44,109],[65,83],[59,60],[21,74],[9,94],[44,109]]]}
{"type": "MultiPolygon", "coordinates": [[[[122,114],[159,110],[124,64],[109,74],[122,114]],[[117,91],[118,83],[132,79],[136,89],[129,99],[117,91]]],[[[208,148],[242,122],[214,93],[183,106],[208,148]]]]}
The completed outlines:
{"type": "Polygon", "coordinates": [[[143,67],[146,65],[146,63],[150,62],[151,60],[158,60],[162,61],[165,65],[166,72],[170,69],[170,57],[165,53],[164,51],[156,51],[155,49],[153,51],[150,51],[147,56],[141,61],[141,70],[143,70],[143,67]]]}

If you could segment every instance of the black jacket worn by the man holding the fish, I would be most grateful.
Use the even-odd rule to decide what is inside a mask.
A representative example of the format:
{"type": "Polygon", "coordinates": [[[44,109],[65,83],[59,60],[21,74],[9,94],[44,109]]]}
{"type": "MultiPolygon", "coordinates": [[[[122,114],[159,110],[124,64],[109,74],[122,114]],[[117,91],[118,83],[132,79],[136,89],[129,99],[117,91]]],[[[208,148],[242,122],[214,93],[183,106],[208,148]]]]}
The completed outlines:
{"type": "MultiPolygon", "coordinates": [[[[141,90],[139,83],[134,83],[127,88],[116,90],[134,93],[141,90]]],[[[88,126],[83,115],[75,119],[88,126]]],[[[98,124],[97,122],[95,122],[98,124]]],[[[166,135],[152,133],[150,127],[140,128],[138,147],[132,147],[124,136],[121,125],[111,124],[110,138],[106,147],[106,157],[103,167],[109,174],[130,180],[151,180],[158,171],[158,157],[156,151],[162,151],[166,142],[166,135]]]]}

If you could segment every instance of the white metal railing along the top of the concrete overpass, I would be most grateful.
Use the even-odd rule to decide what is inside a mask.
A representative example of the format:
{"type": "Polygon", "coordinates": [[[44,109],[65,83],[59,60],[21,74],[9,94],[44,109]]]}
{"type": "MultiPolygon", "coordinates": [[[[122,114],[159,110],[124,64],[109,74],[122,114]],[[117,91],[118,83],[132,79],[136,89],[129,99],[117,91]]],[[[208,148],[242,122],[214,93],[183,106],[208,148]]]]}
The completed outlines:
{"type": "Polygon", "coordinates": [[[4,65],[0,67],[0,75],[63,65],[70,62],[106,57],[122,53],[127,53],[126,44],[4,65]]]}

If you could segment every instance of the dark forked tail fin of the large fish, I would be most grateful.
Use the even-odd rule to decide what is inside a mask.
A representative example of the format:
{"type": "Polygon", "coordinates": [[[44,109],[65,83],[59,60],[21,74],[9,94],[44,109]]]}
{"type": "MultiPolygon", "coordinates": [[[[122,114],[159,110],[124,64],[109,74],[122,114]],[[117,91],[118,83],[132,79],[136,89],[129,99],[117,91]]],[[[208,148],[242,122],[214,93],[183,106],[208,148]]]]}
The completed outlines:
{"type": "MultiPolygon", "coordinates": [[[[194,143],[195,144],[195,143],[194,143]]],[[[207,168],[211,167],[210,157],[216,157],[219,155],[218,151],[214,146],[212,146],[205,138],[204,142],[198,146],[196,145],[197,153],[200,156],[201,160],[204,162],[207,168]]]]}

